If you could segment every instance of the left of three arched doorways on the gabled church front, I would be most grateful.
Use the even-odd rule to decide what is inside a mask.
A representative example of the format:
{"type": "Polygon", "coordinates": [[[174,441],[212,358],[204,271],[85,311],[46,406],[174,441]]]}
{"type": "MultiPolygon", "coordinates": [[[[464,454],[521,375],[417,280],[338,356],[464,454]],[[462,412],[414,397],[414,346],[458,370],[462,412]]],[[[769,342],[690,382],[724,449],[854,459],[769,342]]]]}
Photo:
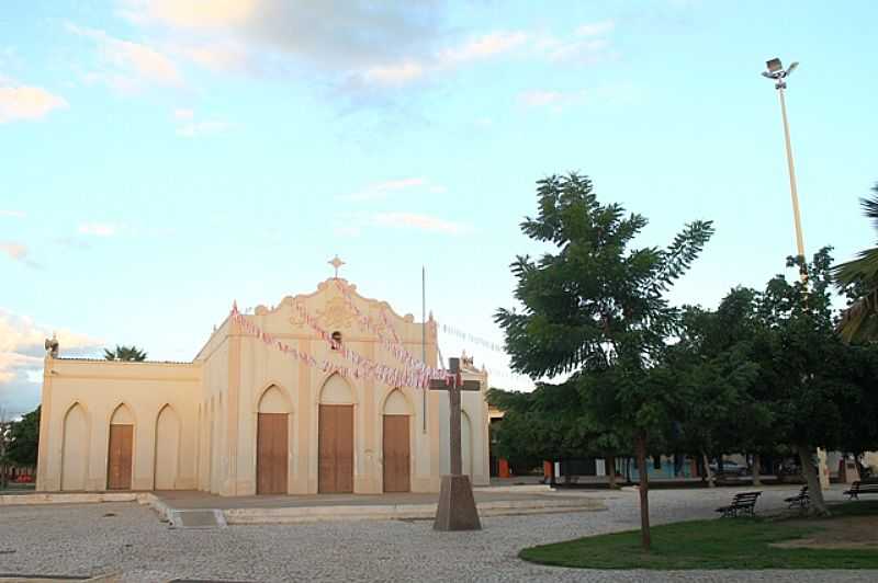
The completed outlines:
{"type": "Polygon", "coordinates": [[[259,399],[256,430],[256,493],[285,494],[290,451],[286,399],[272,385],[259,399]]]}

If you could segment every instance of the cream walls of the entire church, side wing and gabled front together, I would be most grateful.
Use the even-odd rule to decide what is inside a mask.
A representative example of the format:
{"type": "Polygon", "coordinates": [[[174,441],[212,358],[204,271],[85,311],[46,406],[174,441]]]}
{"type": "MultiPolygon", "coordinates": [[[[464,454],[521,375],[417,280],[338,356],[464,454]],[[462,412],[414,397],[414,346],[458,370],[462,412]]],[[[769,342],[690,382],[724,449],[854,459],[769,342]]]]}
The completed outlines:
{"type": "MultiPolygon", "coordinates": [[[[344,279],[339,282],[354,290],[354,286],[344,279]]],[[[386,310],[401,341],[410,353],[420,356],[421,324],[410,315],[398,316],[386,304],[356,293],[352,298],[375,325],[383,327],[381,315],[386,310]]],[[[383,492],[384,407],[395,388],[375,379],[357,378],[353,363],[316,334],[295,309],[296,302],[305,304],[308,313],[327,332],[340,332],[347,348],[376,363],[402,367],[374,331],[358,321],[333,281],[322,283],[314,294],[284,298],[271,309],[260,306],[254,315],[246,316],[277,340],[313,355],[318,363],[328,361],[331,363],[328,369],[294,359],[277,346],[243,332],[240,325],[230,320],[215,330],[191,364],[48,358],[37,488],[60,489],[66,466],[66,488],[83,484],[87,490],[105,489],[110,420],[115,409],[124,403],[131,419],[120,415],[117,421],[133,421],[134,424],[133,489],[160,487],[199,489],[221,495],[255,494],[259,400],[267,389],[275,387],[277,393],[272,395],[281,395],[282,400],[272,397],[275,400],[271,412],[289,409],[286,490],[296,494],[317,493],[322,389],[334,370],[347,368],[342,377],[349,386],[353,412],[352,488],[357,493],[383,492]],[[79,408],[69,418],[65,432],[65,415],[75,403],[79,403],[79,408]],[[166,405],[171,409],[159,419],[166,405]],[[66,443],[65,435],[68,435],[66,443]],[[170,448],[168,455],[156,454],[161,445],[170,448]]],[[[430,320],[425,325],[428,330],[427,363],[436,366],[436,324],[430,320]]],[[[391,336],[387,331],[385,333],[391,336]]],[[[404,410],[409,415],[410,489],[438,492],[440,473],[447,472],[449,466],[448,395],[442,391],[425,393],[410,387],[401,388],[399,395],[402,400],[397,398],[392,403],[395,413],[389,414],[401,414],[404,410]]],[[[338,400],[330,392],[325,397],[338,400]]],[[[469,459],[473,482],[487,483],[486,405],[481,395],[466,393],[463,407],[472,435],[469,459]]],[[[277,422],[277,418],[273,419],[277,422]]],[[[401,431],[398,423],[394,427],[401,431]]],[[[394,456],[399,459],[398,453],[394,456]]],[[[398,477],[398,472],[394,476],[398,477]]],[[[283,488],[282,480],[278,483],[283,488]]]]}

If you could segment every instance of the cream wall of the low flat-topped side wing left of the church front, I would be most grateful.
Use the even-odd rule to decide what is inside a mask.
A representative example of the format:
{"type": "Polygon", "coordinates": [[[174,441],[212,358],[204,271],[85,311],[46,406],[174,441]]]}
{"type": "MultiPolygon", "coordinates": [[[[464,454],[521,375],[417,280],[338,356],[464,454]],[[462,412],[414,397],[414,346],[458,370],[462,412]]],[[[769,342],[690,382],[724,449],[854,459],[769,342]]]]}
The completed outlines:
{"type": "Polygon", "coordinates": [[[49,407],[45,421],[41,420],[37,489],[105,490],[113,420],[134,425],[131,488],[151,490],[160,445],[157,421],[166,405],[173,408],[180,421],[175,488],[195,488],[193,421],[200,376],[200,367],[190,364],[47,358],[45,377],[50,378],[44,379],[43,398],[49,407]],[[71,409],[74,418],[68,419],[71,409]]]}

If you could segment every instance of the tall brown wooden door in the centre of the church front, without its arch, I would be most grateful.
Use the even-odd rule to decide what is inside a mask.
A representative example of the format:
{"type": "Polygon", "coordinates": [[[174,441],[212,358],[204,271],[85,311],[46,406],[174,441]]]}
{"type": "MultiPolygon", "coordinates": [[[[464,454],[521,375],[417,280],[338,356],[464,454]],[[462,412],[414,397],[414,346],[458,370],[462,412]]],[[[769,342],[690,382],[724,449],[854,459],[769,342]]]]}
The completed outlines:
{"type": "Polygon", "coordinates": [[[322,404],[318,435],[317,491],[353,492],[353,405],[322,404]]]}

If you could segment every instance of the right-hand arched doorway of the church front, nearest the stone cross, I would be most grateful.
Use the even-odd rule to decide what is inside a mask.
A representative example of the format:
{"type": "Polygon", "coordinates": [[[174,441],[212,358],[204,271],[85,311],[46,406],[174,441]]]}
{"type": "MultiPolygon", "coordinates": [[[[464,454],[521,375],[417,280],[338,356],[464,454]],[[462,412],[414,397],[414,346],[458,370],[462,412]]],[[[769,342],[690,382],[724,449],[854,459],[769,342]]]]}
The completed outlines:
{"type": "Polygon", "coordinates": [[[399,389],[384,401],[383,475],[385,492],[412,490],[412,451],[408,402],[399,389]]]}

